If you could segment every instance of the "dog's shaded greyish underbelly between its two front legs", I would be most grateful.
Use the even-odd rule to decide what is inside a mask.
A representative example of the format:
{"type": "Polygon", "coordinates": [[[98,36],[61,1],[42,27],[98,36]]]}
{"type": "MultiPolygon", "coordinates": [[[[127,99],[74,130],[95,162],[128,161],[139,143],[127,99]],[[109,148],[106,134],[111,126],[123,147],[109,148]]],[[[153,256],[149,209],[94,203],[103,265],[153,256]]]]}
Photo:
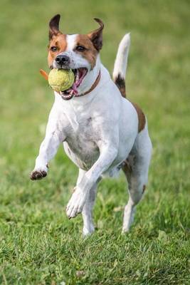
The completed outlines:
{"type": "Polygon", "coordinates": [[[63,147],[70,160],[83,170],[89,170],[100,155],[100,151],[93,141],[81,138],[68,139],[63,142],[63,147]]]}

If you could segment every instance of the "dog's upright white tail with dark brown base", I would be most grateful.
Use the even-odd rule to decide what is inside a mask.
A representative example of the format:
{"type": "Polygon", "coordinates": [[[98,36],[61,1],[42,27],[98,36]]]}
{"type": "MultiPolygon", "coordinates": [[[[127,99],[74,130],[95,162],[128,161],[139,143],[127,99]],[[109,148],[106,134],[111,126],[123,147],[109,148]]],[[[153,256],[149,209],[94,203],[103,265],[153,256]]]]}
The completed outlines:
{"type": "Polygon", "coordinates": [[[117,56],[115,58],[115,64],[113,69],[113,81],[120,89],[120,92],[123,97],[126,97],[125,94],[125,75],[127,71],[127,58],[130,50],[130,33],[122,38],[120,46],[117,50],[117,56]]]}

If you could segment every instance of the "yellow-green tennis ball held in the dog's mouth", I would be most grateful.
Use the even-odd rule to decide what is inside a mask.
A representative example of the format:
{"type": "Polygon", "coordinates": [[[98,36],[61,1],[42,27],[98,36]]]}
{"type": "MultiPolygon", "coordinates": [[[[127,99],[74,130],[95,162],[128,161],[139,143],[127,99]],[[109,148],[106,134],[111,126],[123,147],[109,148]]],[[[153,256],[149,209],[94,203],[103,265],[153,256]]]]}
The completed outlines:
{"type": "Polygon", "coordinates": [[[75,81],[74,73],[71,69],[53,68],[48,76],[48,83],[56,91],[65,91],[70,88],[75,81]]]}

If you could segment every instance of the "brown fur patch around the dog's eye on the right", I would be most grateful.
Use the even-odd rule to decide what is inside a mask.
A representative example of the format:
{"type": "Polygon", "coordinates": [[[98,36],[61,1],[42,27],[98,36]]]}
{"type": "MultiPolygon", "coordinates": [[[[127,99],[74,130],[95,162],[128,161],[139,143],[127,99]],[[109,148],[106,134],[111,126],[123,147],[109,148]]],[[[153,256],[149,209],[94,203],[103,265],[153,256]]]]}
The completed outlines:
{"type": "Polygon", "coordinates": [[[93,69],[98,52],[92,41],[90,41],[90,38],[87,35],[78,35],[76,38],[76,46],[84,46],[86,48],[83,52],[75,51],[75,53],[80,53],[80,55],[90,63],[91,69],[93,69]]]}

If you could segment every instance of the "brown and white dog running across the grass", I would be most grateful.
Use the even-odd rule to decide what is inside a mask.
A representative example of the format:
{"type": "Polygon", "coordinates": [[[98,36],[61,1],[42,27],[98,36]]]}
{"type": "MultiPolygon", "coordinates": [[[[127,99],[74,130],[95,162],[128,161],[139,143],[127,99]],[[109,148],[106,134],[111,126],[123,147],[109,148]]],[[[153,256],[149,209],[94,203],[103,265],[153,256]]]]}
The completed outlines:
{"type": "Polygon", "coordinates": [[[66,214],[70,219],[82,213],[83,235],[87,236],[95,230],[92,211],[98,182],[122,170],[129,190],[122,232],[128,232],[147,185],[152,155],[147,118],[138,105],[125,98],[130,34],[120,42],[112,80],[100,61],[103,22],[95,19],[99,28],[88,34],[66,35],[60,32],[59,21],[58,14],[49,23],[48,66],[72,69],[75,83],[68,90],[54,91],[46,136],[30,177],[46,177],[48,162],[63,143],[79,168],[66,214]]]}

